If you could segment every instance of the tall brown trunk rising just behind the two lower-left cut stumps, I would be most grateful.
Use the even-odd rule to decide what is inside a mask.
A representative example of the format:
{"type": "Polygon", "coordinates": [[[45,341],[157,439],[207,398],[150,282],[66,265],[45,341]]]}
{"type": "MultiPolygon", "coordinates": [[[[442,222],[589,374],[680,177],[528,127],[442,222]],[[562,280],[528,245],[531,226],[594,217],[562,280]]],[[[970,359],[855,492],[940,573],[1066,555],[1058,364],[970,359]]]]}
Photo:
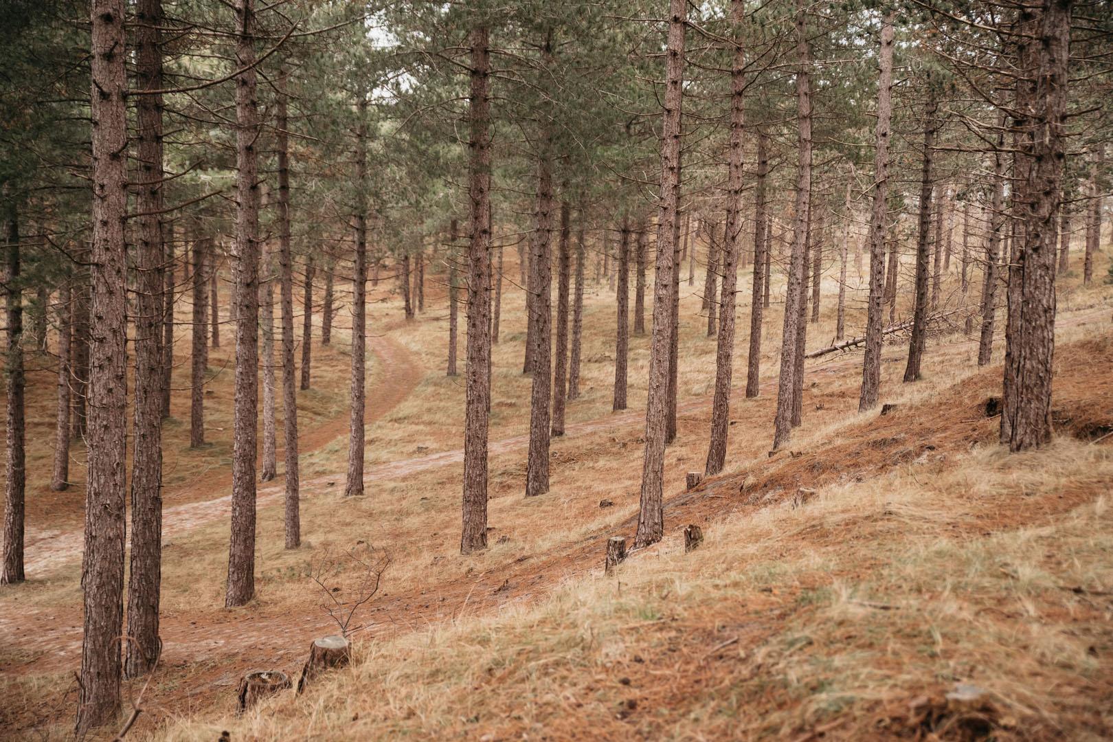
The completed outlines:
{"type": "Polygon", "coordinates": [[[255,142],[254,0],[236,0],[236,388],[233,398],[232,538],[225,607],[255,595],[255,458],[259,386],[259,191],[255,142]]]}

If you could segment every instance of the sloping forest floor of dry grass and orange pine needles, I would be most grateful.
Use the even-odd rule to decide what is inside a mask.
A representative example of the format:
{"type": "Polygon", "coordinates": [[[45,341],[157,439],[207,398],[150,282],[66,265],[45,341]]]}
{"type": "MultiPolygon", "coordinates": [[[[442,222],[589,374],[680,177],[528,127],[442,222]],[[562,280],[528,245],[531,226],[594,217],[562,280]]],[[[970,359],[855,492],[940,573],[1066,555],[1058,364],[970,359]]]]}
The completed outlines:
{"type": "MultiPolygon", "coordinates": [[[[977,368],[976,343],[940,327],[915,385],[899,384],[904,345],[887,346],[883,402],[896,407],[884,416],[856,413],[860,354],[809,362],[805,427],[770,457],[780,313],[775,305],[765,324],[757,399],[739,388],[740,321],[728,467],[693,492],[682,492],[683,475],[703,468],[715,342],[706,337],[700,297],[686,289],[666,540],[611,576],[601,570],[605,540],[632,536],[637,522],[648,338],[631,342],[630,410],[611,413],[613,297],[604,285],[589,285],[583,394],[569,406],[565,436],[553,442],[552,491],[530,499],[522,497],[524,315],[519,293],[506,287],[493,359],[491,547],[483,554],[457,553],[463,382],[442,370],[446,313],[435,285],[429,311],[413,323],[387,287],[372,293],[371,328],[380,334],[370,338],[362,498],[341,494],[346,330],[337,328],[329,348],[315,346],[315,389],[298,403],[305,543],[282,548],[279,449],[278,479],[259,488],[258,596],[244,609],[223,607],[230,446],[220,427],[230,405],[208,405],[208,451],[189,452],[187,424],[168,425],[165,650],[146,690],[145,681],[128,683],[126,704],[141,693],[144,709],[131,734],[1113,734],[1107,287],[1064,281],[1056,439],[1020,456],[996,445],[997,421],[985,410],[999,394],[999,363],[977,368]],[[613,506],[600,507],[604,498],[613,506]],[[689,523],[702,525],[707,541],[684,554],[680,530],[689,523]],[[328,598],[308,575],[326,552],[359,542],[387,550],[392,565],[355,617],[356,665],[306,696],[283,695],[234,719],[246,670],[294,675],[312,639],[335,631],[323,610],[328,598]],[[959,681],[986,690],[981,706],[948,709],[944,694],[959,681]]],[[[834,286],[828,290],[833,297],[834,286]]],[[[821,321],[809,326],[818,338],[809,348],[834,334],[833,304],[828,298],[821,321]]],[[[854,296],[850,306],[854,318],[854,296]]],[[[999,360],[999,347],[996,354],[999,360]]],[[[227,356],[217,354],[211,365],[223,363],[227,356]]],[[[227,376],[214,374],[207,402],[232,398],[227,376]]],[[[49,476],[32,462],[52,453],[43,443],[52,397],[43,392],[48,375],[31,383],[29,399],[46,402],[29,419],[43,435],[29,459],[30,580],[0,593],[0,729],[50,739],[66,736],[75,703],[82,496],[46,494],[39,484],[49,476]]],[[[176,416],[185,414],[175,406],[176,416]]],[[[335,577],[341,595],[357,576],[335,577]]]]}

